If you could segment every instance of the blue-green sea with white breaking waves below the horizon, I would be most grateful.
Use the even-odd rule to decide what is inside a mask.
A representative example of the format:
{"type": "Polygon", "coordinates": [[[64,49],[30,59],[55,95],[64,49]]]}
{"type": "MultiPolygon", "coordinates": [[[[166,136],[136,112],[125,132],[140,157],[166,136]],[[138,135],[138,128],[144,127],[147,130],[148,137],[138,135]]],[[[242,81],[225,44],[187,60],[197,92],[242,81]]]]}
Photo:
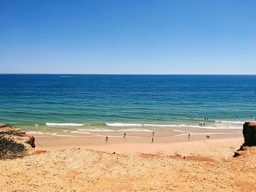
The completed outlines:
{"type": "Polygon", "coordinates": [[[256,116],[256,76],[2,74],[0,92],[0,122],[29,129],[220,129],[256,116]]]}

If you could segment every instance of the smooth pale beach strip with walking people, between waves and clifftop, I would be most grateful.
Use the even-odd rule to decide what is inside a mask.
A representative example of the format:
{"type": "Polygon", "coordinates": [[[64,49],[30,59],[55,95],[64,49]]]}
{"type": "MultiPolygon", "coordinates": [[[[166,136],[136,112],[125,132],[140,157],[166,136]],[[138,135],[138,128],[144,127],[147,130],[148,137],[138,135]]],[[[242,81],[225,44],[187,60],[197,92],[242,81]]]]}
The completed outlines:
{"type": "Polygon", "coordinates": [[[240,129],[197,129],[182,132],[158,131],[152,132],[127,131],[124,132],[104,131],[70,133],[55,132],[54,135],[35,134],[36,148],[47,151],[56,151],[69,148],[81,148],[98,150],[116,154],[180,154],[206,155],[216,157],[228,157],[243,143],[243,134],[240,129]],[[190,139],[188,132],[190,131],[190,139]],[[175,132],[175,135],[173,135],[175,132]],[[209,138],[205,136],[209,134],[209,138]],[[105,138],[109,140],[106,142],[105,138]]]}

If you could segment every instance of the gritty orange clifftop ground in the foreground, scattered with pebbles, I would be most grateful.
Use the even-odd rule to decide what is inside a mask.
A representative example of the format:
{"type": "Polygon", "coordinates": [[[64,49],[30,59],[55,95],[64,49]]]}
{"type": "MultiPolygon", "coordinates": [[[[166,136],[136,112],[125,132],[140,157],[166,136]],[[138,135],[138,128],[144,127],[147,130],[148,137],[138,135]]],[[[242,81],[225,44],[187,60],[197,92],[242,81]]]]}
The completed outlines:
{"type": "Polygon", "coordinates": [[[255,191],[256,150],[211,158],[60,150],[1,161],[0,191],[255,191]]]}

